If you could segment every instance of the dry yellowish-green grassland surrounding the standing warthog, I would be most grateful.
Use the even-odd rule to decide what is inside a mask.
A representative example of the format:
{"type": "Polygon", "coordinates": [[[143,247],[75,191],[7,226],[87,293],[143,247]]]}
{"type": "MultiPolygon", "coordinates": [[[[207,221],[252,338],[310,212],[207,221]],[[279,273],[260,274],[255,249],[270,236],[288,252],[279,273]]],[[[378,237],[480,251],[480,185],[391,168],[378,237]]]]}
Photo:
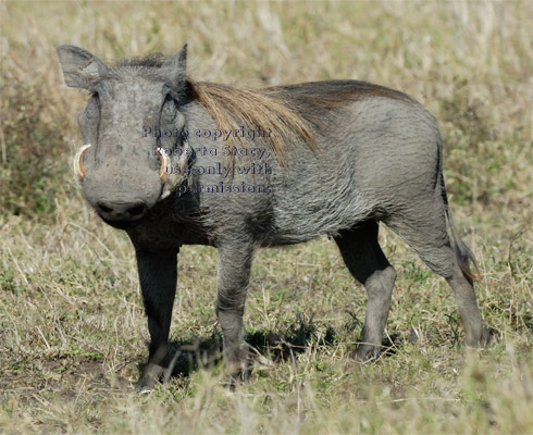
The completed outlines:
{"type": "Polygon", "coordinates": [[[1,2],[0,433],[532,433],[533,10],[528,1],[1,2]],[[348,357],[365,296],[320,239],[257,256],[252,378],[225,389],[216,251],[179,260],[179,376],[138,396],[148,333],[133,249],[70,173],[82,92],[54,46],[103,59],[189,44],[197,79],[358,78],[422,101],[446,142],[451,207],[499,341],[461,346],[446,283],[386,229],[398,271],[391,356],[348,357]]]}

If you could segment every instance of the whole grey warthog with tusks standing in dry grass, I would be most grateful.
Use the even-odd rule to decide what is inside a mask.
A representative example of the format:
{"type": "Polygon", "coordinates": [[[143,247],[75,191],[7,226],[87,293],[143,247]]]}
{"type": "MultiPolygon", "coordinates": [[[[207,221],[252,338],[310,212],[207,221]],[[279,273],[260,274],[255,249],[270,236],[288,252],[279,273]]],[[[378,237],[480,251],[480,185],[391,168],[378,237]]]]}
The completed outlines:
{"type": "Polygon", "coordinates": [[[247,372],[243,312],[255,250],[322,235],[368,291],[356,356],[379,356],[396,278],[379,222],[447,279],[467,344],[488,341],[474,259],[449,211],[438,128],[420,103],[356,80],[256,90],[197,83],[186,46],[113,65],[74,46],[58,53],[66,84],[91,94],[74,159],[83,191],[135,248],[150,332],[138,388],[163,372],[183,245],[219,249],[216,313],[233,376],[247,372]]]}

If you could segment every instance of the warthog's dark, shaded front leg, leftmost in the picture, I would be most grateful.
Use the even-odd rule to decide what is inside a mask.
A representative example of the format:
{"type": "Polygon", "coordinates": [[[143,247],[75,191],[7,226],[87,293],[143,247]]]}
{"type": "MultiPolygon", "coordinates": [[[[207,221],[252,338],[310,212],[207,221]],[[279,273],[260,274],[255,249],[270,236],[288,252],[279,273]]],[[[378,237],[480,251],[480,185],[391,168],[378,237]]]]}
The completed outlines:
{"type": "Polygon", "coordinates": [[[137,390],[141,393],[150,390],[163,373],[161,363],[169,346],[169,330],[176,293],[177,252],[177,249],[136,249],[140,289],[150,333],[148,363],[136,384],[137,390]]]}

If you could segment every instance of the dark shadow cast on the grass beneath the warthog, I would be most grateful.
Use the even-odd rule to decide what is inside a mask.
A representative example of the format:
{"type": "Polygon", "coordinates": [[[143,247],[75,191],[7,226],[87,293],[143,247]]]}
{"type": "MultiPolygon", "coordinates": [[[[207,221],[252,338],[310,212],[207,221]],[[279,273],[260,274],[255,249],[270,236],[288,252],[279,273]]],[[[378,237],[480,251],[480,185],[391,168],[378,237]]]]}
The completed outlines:
{"type": "MultiPolygon", "coordinates": [[[[361,322],[352,313],[342,328],[351,333],[359,328],[361,322]]],[[[261,330],[245,333],[245,341],[248,346],[249,374],[257,362],[269,361],[278,363],[295,361],[295,357],[303,353],[311,346],[333,348],[338,344],[339,330],[329,325],[319,326],[312,316],[306,319],[297,315],[295,321],[285,331],[261,330]]],[[[380,358],[396,353],[401,346],[402,338],[399,334],[387,336],[382,341],[380,358]]],[[[213,333],[210,336],[199,337],[195,340],[172,340],[169,351],[162,361],[163,382],[171,377],[188,377],[193,372],[201,368],[213,368],[222,362],[222,336],[213,333]]],[[[142,371],[142,365],[139,366],[142,371]]]]}

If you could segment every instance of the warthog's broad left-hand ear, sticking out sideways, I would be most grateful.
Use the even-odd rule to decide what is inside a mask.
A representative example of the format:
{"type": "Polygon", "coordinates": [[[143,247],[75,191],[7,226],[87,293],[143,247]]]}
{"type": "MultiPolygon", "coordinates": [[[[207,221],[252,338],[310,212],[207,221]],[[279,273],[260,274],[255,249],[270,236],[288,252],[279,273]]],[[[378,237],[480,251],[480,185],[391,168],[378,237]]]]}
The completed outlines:
{"type": "Polygon", "coordinates": [[[58,55],[65,83],[73,88],[92,90],[101,75],[108,71],[100,59],[76,46],[59,46],[58,55]]]}

